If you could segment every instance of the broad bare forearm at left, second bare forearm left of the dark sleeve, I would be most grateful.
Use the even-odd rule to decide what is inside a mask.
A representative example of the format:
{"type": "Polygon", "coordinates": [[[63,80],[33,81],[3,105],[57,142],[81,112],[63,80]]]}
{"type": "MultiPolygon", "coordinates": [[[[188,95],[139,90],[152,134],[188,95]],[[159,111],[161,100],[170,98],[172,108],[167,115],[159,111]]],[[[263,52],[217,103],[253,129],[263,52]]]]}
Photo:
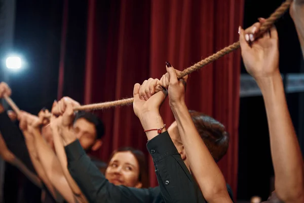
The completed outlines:
{"type": "Polygon", "coordinates": [[[73,192],[64,177],[59,160],[56,157],[55,153],[42,138],[40,132],[37,132],[35,130],[33,132],[33,136],[35,140],[34,143],[37,150],[37,155],[52,185],[66,201],[76,202],[73,192]]]}

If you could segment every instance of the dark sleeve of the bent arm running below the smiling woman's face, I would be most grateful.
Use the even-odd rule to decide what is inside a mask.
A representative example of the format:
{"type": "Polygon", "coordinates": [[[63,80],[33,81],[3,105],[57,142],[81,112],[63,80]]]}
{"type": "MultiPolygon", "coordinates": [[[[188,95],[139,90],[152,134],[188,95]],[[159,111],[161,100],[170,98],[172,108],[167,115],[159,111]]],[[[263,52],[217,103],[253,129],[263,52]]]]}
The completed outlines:
{"type": "MultiPolygon", "coordinates": [[[[156,202],[157,188],[137,189],[111,184],[86,155],[79,140],[65,147],[68,170],[89,202],[156,202]]],[[[162,201],[158,201],[162,202],[162,201]]]]}

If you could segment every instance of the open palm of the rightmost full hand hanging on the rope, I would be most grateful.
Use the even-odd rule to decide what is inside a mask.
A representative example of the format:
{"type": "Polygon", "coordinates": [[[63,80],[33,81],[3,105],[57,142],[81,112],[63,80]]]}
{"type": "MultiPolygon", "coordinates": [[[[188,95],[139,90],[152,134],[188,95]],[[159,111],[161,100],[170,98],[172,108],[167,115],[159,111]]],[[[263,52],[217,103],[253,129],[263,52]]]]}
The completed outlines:
{"type": "Polygon", "coordinates": [[[261,38],[253,42],[251,49],[242,50],[243,61],[247,72],[254,78],[269,77],[278,67],[278,41],[272,38],[261,38]]]}

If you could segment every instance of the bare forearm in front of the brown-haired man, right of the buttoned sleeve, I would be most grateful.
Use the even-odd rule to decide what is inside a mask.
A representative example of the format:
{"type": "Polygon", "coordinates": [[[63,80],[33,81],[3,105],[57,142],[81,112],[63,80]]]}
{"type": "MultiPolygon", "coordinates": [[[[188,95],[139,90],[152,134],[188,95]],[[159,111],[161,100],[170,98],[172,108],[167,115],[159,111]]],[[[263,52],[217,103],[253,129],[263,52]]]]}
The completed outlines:
{"type": "Polygon", "coordinates": [[[208,202],[232,202],[224,177],[192,121],[184,103],[171,107],[187,159],[202,193],[208,202]]]}

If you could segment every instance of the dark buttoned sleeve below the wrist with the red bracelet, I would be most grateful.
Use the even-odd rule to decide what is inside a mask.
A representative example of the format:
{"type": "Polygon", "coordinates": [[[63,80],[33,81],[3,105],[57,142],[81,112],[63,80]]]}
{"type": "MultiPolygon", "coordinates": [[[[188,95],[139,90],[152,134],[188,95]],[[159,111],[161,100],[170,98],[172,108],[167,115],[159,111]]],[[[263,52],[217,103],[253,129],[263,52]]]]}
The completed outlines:
{"type": "Polygon", "coordinates": [[[147,149],[166,202],[205,202],[167,131],[148,141],[147,149]]]}

